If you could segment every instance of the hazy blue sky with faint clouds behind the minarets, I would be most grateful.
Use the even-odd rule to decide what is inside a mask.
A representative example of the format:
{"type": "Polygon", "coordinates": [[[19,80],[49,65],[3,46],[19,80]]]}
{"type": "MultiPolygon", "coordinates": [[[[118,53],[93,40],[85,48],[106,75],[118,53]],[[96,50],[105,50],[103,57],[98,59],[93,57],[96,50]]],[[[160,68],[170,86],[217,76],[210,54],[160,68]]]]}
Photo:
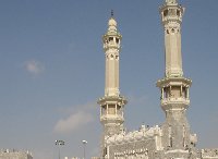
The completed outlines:
{"type": "MultiPolygon", "coordinates": [[[[0,2],[0,148],[28,149],[35,159],[96,156],[104,96],[101,36],[113,9],[123,36],[120,89],[125,126],[165,120],[157,80],[164,77],[164,0],[2,0],[0,2]]],[[[193,80],[187,118],[199,148],[218,147],[217,0],[181,0],[183,70],[193,80]]]]}

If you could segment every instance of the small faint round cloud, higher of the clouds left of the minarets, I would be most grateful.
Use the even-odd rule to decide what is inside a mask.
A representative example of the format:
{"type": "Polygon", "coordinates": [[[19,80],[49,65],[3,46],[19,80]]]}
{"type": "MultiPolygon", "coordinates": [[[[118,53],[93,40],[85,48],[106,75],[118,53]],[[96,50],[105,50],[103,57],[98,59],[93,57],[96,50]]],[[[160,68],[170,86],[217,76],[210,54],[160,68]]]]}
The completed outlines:
{"type": "Polygon", "coordinates": [[[25,62],[25,69],[28,73],[31,73],[32,75],[39,75],[44,72],[44,65],[35,60],[29,60],[27,62],[25,62]]]}

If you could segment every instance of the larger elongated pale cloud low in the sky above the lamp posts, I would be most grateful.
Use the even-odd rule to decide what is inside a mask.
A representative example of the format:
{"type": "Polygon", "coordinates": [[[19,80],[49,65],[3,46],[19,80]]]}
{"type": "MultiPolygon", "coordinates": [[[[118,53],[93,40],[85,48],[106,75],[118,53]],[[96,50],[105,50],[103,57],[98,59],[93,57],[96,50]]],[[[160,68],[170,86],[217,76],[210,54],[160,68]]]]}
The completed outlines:
{"type": "Polygon", "coordinates": [[[90,113],[78,111],[71,114],[66,119],[60,119],[55,126],[55,132],[61,134],[70,133],[86,125],[92,121],[94,121],[94,118],[90,113]]]}

